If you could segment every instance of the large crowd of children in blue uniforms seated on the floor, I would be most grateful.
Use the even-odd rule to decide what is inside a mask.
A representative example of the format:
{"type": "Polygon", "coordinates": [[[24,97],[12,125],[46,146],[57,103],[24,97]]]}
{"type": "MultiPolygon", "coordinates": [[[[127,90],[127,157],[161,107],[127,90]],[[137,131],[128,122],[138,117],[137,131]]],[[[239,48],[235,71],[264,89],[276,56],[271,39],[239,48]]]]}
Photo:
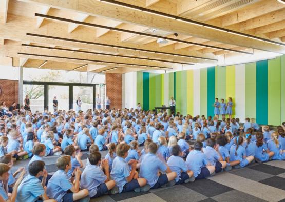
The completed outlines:
{"type": "Polygon", "coordinates": [[[89,201],[107,193],[188,183],[253,160],[285,159],[284,128],[285,123],[276,131],[260,130],[249,118],[240,127],[234,118],[220,122],[211,116],[132,109],[4,116],[0,195],[5,201],[89,201]],[[103,150],[108,150],[104,159],[103,150]],[[90,153],[83,172],[82,151],[90,153]],[[61,155],[53,175],[45,170],[49,155],[61,155]],[[14,160],[26,158],[31,159],[25,177],[24,168],[10,171],[14,160]]]}

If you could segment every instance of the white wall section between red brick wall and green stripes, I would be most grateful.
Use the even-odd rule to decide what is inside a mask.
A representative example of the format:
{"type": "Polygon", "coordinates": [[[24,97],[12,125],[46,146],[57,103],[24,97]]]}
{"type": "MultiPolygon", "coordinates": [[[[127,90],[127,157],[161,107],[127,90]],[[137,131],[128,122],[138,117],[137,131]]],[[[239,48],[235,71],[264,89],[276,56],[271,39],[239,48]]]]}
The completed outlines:
{"type": "Polygon", "coordinates": [[[137,72],[123,74],[123,108],[136,108],[137,106],[137,72]]]}

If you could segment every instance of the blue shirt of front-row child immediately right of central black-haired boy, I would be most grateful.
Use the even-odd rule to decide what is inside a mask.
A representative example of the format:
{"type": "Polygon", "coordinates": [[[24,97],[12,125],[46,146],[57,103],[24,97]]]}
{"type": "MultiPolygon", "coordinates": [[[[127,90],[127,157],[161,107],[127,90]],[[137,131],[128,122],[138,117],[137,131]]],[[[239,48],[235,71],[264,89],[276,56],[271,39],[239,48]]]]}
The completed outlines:
{"type": "Polygon", "coordinates": [[[188,170],[192,170],[194,173],[194,176],[197,177],[198,174],[201,173],[201,168],[205,167],[208,164],[208,160],[206,155],[197,150],[192,150],[185,161],[188,170]]]}

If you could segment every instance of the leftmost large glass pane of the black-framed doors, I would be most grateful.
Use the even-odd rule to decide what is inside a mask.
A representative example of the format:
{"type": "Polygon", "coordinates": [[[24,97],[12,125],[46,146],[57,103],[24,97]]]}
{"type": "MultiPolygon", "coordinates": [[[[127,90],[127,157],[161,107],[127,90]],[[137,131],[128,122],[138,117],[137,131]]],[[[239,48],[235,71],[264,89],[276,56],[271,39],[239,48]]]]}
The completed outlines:
{"type": "Polygon", "coordinates": [[[25,96],[29,95],[32,112],[44,111],[44,85],[23,85],[23,104],[25,96]]]}

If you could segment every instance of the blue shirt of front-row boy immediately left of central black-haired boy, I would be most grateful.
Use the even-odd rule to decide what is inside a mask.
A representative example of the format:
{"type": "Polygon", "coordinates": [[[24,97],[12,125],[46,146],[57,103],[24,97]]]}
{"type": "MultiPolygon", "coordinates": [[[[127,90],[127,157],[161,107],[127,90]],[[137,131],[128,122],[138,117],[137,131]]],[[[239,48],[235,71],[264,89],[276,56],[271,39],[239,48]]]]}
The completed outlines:
{"type": "Polygon", "coordinates": [[[142,160],[140,177],[146,179],[147,184],[153,187],[158,180],[158,171],[165,172],[167,166],[153,153],[148,153],[142,160]]]}

